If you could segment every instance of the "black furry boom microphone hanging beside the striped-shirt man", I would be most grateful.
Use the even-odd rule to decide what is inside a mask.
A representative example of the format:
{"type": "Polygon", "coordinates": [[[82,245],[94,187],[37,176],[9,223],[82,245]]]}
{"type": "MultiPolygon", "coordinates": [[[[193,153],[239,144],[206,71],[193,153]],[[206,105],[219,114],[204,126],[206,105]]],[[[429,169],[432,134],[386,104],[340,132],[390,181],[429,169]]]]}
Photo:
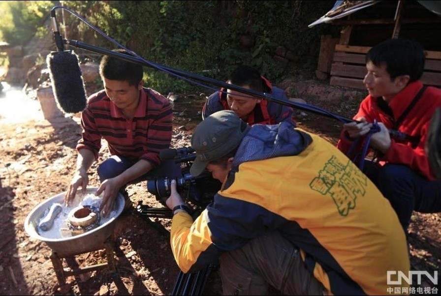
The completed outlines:
{"type": "Polygon", "coordinates": [[[78,113],[86,108],[87,103],[78,57],[72,51],[64,50],[54,8],[51,10],[51,22],[58,50],[46,58],[52,89],[59,109],[64,113],[78,113]]]}

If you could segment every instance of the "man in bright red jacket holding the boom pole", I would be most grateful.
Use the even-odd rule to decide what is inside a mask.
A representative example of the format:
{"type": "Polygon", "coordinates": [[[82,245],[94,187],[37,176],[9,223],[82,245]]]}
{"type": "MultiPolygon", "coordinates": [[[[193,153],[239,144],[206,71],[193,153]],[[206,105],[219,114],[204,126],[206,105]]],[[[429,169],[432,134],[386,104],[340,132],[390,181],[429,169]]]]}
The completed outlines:
{"type": "MultiPolygon", "coordinates": [[[[405,230],[412,210],[441,211],[441,181],[436,180],[424,149],[430,119],[441,106],[441,90],[425,88],[419,81],[424,62],[424,49],[415,41],[390,39],[374,46],[366,55],[368,73],[363,80],[369,95],[354,116],[358,122],[344,125],[338,143],[347,153],[353,141],[365,137],[378,121],[380,131],[372,134],[369,147],[383,166],[369,165],[364,172],[390,201],[405,230]],[[418,140],[391,139],[388,129],[418,140]]],[[[365,141],[359,143],[355,151],[365,141]]]]}

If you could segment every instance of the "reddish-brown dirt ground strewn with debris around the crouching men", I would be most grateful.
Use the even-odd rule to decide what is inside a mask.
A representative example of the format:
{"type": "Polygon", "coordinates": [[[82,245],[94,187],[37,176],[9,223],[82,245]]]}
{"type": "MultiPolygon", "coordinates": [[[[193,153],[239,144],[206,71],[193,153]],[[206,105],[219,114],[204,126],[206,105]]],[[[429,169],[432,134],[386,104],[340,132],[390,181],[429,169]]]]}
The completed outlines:
{"type": "MultiPolygon", "coordinates": [[[[1,98],[0,98],[1,99],[1,98]]],[[[199,122],[205,95],[181,97],[174,105],[173,147],[189,145],[190,132],[199,122]]],[[[308,101],[351,117],[358,102],[308,101]]],[[[40,111],[41,112],[41,111],[40,111]]],[[[308,114],[299,126],[336,143],[341,124],[308,114]]],[[[43,200],[65,191],[75,166],[75,145],[80,138],[78,118],[5,122],[0,118],[0,295],[170,295],[178,275],[169,240],[135,210],[116,222],[117,271],[107,270],[69,276],[59,285],[49,258],[51,249],[24,230],[28,213],[43,200]]],[[[108,156],[101,149],[102,161],[108,156]]],[[[89,170],[90,186],[97,186],[96,163],[89,170]]],[[[146,182],[128,186],[131,201],[160,205],[146,190],[146,182]]],[[[166,228],[170,220],[153,218],[166,228]]],[[[415,213],[410,225],[412,270],[433,274],[441,266],[440,214],[415,213]]],[[[105,263],[104,250],[76,256],[80,266],[105,263]]],[[[65,263],[64,263],[65,264],[65,263]]],[[[375,263],[373,263],[375,264],[375,263]]],[[[440,272],[439,272],[440,273],[440,272]]],[[[421,287],[432,287],[424,281],[421,287]]],[[[277,293],[277,292],[276,292],[277,293]]],[[[213,270],[205,295],[221,295],[219,271],[213,270]]],[[[423,293],[421,293],[423,294],[423,293]]]]}

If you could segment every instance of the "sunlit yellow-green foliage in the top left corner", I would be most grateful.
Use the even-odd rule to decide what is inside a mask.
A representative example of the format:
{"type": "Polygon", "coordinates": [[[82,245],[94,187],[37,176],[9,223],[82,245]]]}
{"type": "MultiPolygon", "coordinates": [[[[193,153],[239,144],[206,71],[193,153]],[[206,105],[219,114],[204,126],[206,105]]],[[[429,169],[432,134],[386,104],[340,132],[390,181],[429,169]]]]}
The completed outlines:
{"type": "Polygon", "coordinates": [[[55,1],[0,1],[0,40],[11,45],[29,41],[49,16],[55,1]]]}

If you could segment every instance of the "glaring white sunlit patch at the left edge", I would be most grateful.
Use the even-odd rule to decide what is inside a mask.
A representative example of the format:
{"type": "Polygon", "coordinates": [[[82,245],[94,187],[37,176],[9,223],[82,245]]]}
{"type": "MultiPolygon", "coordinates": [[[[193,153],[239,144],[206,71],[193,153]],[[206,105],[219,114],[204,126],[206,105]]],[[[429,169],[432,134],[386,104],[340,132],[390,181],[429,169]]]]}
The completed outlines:
{"type": "Polygon", "coordinates": [[[27,120],[43,119],[43,112],[38,100],[32,100],[19,87],[1,82],[0,121],[17,123],[27,120]]]}

